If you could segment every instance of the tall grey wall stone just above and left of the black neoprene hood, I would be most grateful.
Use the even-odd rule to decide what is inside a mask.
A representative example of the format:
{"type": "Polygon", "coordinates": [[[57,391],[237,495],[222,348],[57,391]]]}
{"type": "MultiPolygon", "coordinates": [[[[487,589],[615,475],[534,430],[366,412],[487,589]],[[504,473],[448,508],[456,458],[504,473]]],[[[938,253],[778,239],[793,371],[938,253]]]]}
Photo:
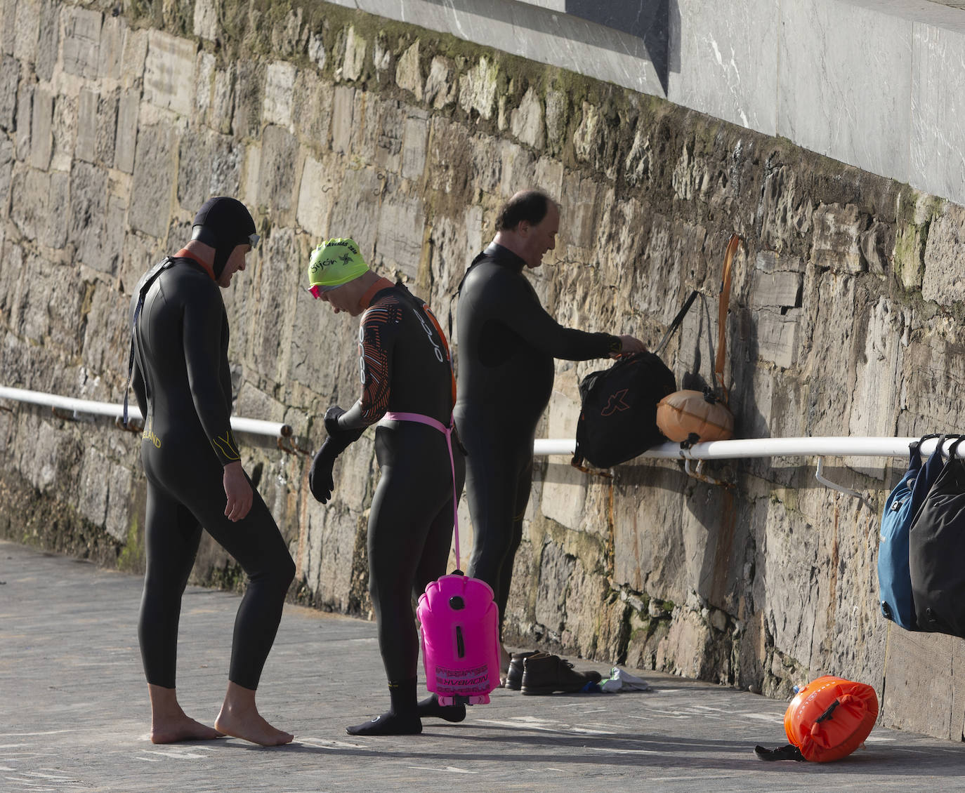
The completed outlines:
{"type": "Polygon", "coordinates": [[[177,148],[175,130],[159,125],[139,128],[127,214],[132,229],[154,237],[163,237],[167,232],[171,210],[165,199],[171,196],[174,187],[177,148]]]}

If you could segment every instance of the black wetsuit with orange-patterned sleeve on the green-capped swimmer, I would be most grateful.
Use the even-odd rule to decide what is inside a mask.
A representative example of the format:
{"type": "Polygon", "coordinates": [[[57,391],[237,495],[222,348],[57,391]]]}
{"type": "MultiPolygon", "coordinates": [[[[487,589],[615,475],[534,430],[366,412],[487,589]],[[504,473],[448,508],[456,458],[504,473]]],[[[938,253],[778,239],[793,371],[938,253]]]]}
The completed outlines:
{"type": "MultiPolygon", "coordinates": [[[[454,382],[442,331],[405,287],[382,279],[376,288],[359,328],[363,394],[340,426],[375,424],[386,412],[421,414],[449,426],[454,382]]],[[[455,496],[442,432],[409,421],[375,430],[381,478],[369,514],[369,591],[390,682],[416,677],[419,637],[411,598],[446,573],[454,498],[465,477],[455,441],[453,452],[455,496]]]]}

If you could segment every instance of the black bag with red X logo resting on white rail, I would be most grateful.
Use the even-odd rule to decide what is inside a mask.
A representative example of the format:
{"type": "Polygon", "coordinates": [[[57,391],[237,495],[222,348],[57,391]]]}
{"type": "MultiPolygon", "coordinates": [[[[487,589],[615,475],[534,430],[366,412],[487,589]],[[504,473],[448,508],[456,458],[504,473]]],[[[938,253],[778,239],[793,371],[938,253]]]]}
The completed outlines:
{"type": "Polygon", "coordinates": [[[676,391],[674,372],[652,352],[624,355],[580,383],[573,465],[619,465],[666,442],[657,428],[657,402],[676,391]]]}

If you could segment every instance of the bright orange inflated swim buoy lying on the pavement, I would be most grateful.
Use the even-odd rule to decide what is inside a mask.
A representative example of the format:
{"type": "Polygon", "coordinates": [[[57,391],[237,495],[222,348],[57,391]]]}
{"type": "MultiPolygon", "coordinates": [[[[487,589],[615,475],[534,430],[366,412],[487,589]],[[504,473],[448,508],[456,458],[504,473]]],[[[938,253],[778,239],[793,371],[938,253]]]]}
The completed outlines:
{"type": "Polygon", "coordinates": [[[806,760],[827,763],[861,746],[877,718],[878,697],[868,684],[825,675],[790,700],[785,732],[806,760]]]}

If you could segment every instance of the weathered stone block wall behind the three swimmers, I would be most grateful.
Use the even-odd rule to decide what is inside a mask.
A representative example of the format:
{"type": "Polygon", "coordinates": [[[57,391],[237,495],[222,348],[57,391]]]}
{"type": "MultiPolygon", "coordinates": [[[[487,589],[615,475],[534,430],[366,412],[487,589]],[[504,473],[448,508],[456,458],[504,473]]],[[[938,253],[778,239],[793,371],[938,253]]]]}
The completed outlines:
{"type": "MultiPolygon", "coordinates": [[[[312,447],[325,408],[359,388],[355,323],[302,288],[314,245],[354,236],[445,318],[498,206],[538,185],[563,205],[557,249],[532,274],[561,322],[656,342],[701,292],[665,355],[688,387],[711,377],[724,247],[743,236],[727,328],[740,435],[962,423],[961,206],[324,3],[134,3],[115,15],[0,0],[0,22],[4,385],[120,401],[132,287],[188,238],[198,205],[226,193],[264,236],[225,293],[235,414],[288,422],[312,447]]],[[[558,362],[545,435],[572,436],[579,379],[604,366],[558,362]]],[[[3,407],[0,534],[140,569],[138,436],[3,407]]],[[[308,493],[306,455],[248,440],[245,464],[297,563],[292,596],[367,615],[372,432],[345,453],[325,507],[308,493]]],[[[960,643],[905,634],[876,605],[878,508],[899,466],[830,466],[863,503],[799,459],[708,467],[723,485],[670,462],[607,478],[539,460],[508,638],[776,697],[836,672],[876,687],[884,724],[959,739],[960,643]]],[[[194,576],[242,586],[209,543],[194,576]]]]}

